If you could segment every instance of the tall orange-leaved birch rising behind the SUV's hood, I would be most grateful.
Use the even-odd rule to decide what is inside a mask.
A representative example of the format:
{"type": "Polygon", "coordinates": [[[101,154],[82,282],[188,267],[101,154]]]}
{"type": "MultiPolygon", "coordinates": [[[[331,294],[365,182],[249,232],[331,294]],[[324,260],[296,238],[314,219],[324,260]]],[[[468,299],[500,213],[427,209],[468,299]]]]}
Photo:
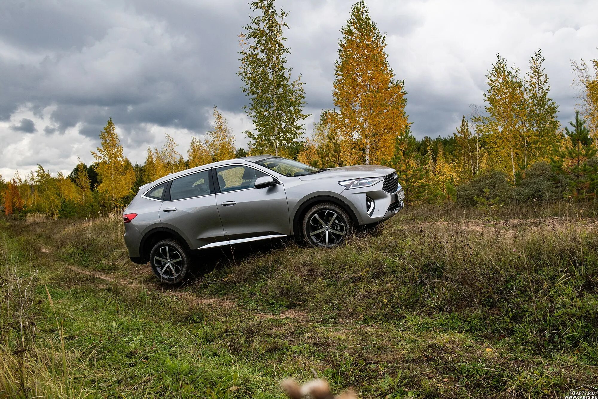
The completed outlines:
{"type": "Polygon", "coordinates": [[[338,127],[350,163],[381,163],[392,157],[394,139],[407,126],[403,82],[388,65],[386,36],[364,0],[353,5],[341,33],[333,87],[338,127]]]}

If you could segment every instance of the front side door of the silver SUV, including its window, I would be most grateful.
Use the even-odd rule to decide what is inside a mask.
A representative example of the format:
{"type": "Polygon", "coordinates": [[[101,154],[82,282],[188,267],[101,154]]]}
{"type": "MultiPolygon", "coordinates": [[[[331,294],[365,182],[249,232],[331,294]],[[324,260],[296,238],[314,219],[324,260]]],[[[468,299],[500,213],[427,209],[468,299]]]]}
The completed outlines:
{"type": "Polygon", "coordinates": [[[246,165],[216,168],[215,176],[220,191],[216,206],[227,240],[291,234],[282,183],[257,189],[255,180],[267,175],[246,165]]]}

